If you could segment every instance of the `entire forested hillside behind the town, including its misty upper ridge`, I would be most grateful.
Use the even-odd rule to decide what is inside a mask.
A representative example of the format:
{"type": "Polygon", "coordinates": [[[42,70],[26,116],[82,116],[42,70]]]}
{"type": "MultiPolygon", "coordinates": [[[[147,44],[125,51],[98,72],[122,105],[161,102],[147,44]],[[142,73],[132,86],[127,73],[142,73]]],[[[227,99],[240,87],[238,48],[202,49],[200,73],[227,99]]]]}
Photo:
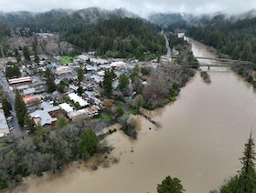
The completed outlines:
{"type": "Polygon", "coordinates": [[[124,9],[2,13],[0,20],[11,27],[13,36],[58,33],[62,41],[76,46],[78,53],[97,51],[98,56],[141,60],[165,53],[165,39],[158,35],[160,29],[124,9]]]}

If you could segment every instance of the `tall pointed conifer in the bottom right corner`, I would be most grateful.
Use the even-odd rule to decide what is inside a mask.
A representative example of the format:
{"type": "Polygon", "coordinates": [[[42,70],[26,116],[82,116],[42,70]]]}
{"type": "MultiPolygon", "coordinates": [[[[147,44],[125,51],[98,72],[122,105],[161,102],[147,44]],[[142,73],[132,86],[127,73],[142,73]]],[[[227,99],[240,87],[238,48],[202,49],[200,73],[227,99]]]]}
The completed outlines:
{"type": "Polygon", "coordinates": [[[240,158],[242,165],[238,175],[229,179],[228,183],[220,188],[221,193],[253,193],[256,192],[256,172],[255,172],[255,144],[250,137],[245,144],[243,157],[240,158]]]}

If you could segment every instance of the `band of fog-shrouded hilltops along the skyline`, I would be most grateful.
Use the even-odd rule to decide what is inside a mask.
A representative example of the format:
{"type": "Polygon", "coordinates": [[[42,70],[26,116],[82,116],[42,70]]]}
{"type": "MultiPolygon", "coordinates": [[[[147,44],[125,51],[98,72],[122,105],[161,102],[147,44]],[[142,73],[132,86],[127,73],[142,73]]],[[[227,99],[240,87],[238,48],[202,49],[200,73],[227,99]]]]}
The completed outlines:
{"type": "MultiPolygon", "coordinates": [[[[155,25],[172,25],[178,22],[187,22],[190,25],[198,25],[204,21],[211,20],[217,15],[222,15],[223,18],[229,21],[237,21],[245,18],[253,18],[256,16],[256,10],[241,13],[238,15],[230,15],[226,12],[216,12],[203,15],[180,14],[180,13],[155,13],[148,15],[146,20],[155,25]]],[[[142,18],[140,15],[133,14],[124,8],[107,10],[99,7],[90,7],[80,10],[71,9],[52,9],[48,12],[34,13],[27,11],[0,12],[0,23],[5,23],[11,27],[35,27],[42,31],[59,31],[54,25],[64,22],[72,25],[74,21],[80,21],[84,24],[97,23],[99,20],[108,20],[112,18],[142,18]]],[[[32,27],[32,28],[33,28],[32,27]]],[[[65,30],[65,29],[62,29],[65,30]]]]}

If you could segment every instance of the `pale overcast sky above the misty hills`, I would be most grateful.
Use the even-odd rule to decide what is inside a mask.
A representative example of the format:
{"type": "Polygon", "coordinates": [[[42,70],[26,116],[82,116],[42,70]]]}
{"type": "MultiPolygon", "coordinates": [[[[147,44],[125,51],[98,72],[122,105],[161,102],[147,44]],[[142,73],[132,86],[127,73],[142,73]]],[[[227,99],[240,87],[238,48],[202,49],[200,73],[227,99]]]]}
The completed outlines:
{"type": "Polygon", "coordinates": [[[83,9],[98,6],[105,9],[125,8],[146,16],[152,12],[240,14],[256,9],[256,0],[0,0],[0,11],[45,12],[50,9],[83,9]]]}

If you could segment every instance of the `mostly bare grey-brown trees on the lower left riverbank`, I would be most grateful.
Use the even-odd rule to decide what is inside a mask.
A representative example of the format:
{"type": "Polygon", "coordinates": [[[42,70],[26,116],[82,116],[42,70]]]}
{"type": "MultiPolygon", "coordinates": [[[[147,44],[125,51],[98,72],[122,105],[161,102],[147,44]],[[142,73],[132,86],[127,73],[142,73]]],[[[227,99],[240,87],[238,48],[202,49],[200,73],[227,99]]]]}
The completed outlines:
{"type": "Polygon", "coordinates": [[[59,173],[70,162],[87,160],[94,154],[105,157],[111,147],[99,143],[89,122],[51,132],[36,127],[34,135],[1,139],[0,188],[12,188],[28,175],[41,176],[46,171],[59,173]]]}

